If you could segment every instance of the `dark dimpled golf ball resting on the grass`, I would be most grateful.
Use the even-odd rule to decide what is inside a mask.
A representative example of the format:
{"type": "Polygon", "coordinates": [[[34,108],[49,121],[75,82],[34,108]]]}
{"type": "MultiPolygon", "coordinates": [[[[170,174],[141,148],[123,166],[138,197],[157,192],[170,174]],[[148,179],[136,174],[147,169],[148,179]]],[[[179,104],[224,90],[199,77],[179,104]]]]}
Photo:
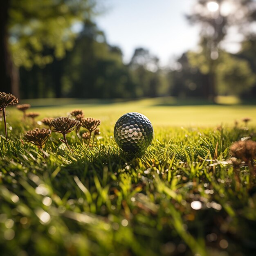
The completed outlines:
{"type": "Polygon", "coordinates": [[[137,112],[122,115],[114,128],[117,145],[128,153],[143,152],[150,145],[153,133],[148,118],[137,112]]]}

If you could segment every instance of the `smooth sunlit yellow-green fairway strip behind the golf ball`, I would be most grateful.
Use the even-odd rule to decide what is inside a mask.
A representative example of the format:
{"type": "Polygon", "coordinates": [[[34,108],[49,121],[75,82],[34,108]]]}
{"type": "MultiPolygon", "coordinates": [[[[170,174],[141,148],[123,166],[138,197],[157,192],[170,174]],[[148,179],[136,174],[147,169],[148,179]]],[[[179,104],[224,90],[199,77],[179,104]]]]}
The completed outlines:
{"type": "MultiPolygon", "coordinates": [[[[172,103],[171,99],[169,100],[172,103]]],[[[65,116],[74,109],[82,109],[86,117],[95,117],[103,124],[114,126],[115,121],[127,112],[141,112],[146,115],[154,127],[214,127],[233,126],[235,121],[249,117],[249,126],[256,125],[256,105],[170,105],[166,98],[142,99],[127,102],[108,102],[75,99],[23,100],[31,103],[31,111],[40,113],[40,117],[65,116]],[[49,106],[47,106],[49,105],[49,106]],[[33,108],[34,106],[34,108],[33,108]]],[[[177,101],[176,103],[179,103],[177,101]]],[[[186,101],[183,101],[186,103],[186,101]]],[[[174,103],[175,104],[175,103],[174,103]]],[[[39,120],[39,117],[38,117],[39,120]]]]}

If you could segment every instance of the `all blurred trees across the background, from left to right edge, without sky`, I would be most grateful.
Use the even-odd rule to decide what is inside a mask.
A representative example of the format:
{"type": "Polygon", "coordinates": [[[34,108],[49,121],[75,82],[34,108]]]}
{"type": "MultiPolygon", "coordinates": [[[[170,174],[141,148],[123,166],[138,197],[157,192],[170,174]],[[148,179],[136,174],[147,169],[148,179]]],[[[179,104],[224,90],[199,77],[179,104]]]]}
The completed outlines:
{"type": "Polygon", "coordinates": [[[128,64],[123,63],[121,49],[109,45],[104,31],[93,21],[96,0],[7,0],[1,27],[8,29],[0,38],[4,45],[7,37],[9,47],[2,47],[0,53],[7,57],[9,53],[9,58],[0,58],[0,72],[6,78],[2,85],[8,86],[1,90],[23,99],[254,98],[256,34],[248,28],[256,20],[256,2],[231,2],[233,12],[225,14],[220,8],[225,0],[215,1],[219,5],[215,11],[208,8],[208,0],[198,0],[198,8],[186,17],[201,27],[198,49],[185,52],[163,68],[157,56],[143,47],[135,49],[128,64]],[[76,33],[78,22],[83,28],[76,33]],[[238,54],[222,47],[234,26],[243,34],[238,54]]]}

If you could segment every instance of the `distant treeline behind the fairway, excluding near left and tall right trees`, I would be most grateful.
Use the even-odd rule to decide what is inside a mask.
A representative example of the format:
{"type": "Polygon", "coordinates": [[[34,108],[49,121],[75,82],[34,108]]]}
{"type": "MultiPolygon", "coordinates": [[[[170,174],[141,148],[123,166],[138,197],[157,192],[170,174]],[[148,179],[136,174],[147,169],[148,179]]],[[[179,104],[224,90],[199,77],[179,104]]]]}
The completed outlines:
{"type": "MultiPolygon", "coordinates": [[[[44,49],[53,54],[53,49],[44,49]]],[[[217,95],[256,96],[256,37],[243,43],[239,54],[219,53],[217,95]]],[[[210,74],[200,67],[203,53],[186,52],[172,67],[137,48],[130,63],[122,62],[119,47],[107,43],[103,31],[87,22],[72,51],[47,65],[20,67],[22,98],[200,97],[208,99],[210,74]]]]}

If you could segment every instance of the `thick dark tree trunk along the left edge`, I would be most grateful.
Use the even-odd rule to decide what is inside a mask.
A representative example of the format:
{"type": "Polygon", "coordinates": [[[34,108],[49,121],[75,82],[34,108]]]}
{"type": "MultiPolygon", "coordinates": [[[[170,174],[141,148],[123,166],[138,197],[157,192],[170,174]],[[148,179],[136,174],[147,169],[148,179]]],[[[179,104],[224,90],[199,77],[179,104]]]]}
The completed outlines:
{"type": "Polygon", "coordinates": [[[12,63],[8,49],[8,9],[9,0],[2,1],[0,8],[0,91],[19,97],[19,72],[12,63]]]}

